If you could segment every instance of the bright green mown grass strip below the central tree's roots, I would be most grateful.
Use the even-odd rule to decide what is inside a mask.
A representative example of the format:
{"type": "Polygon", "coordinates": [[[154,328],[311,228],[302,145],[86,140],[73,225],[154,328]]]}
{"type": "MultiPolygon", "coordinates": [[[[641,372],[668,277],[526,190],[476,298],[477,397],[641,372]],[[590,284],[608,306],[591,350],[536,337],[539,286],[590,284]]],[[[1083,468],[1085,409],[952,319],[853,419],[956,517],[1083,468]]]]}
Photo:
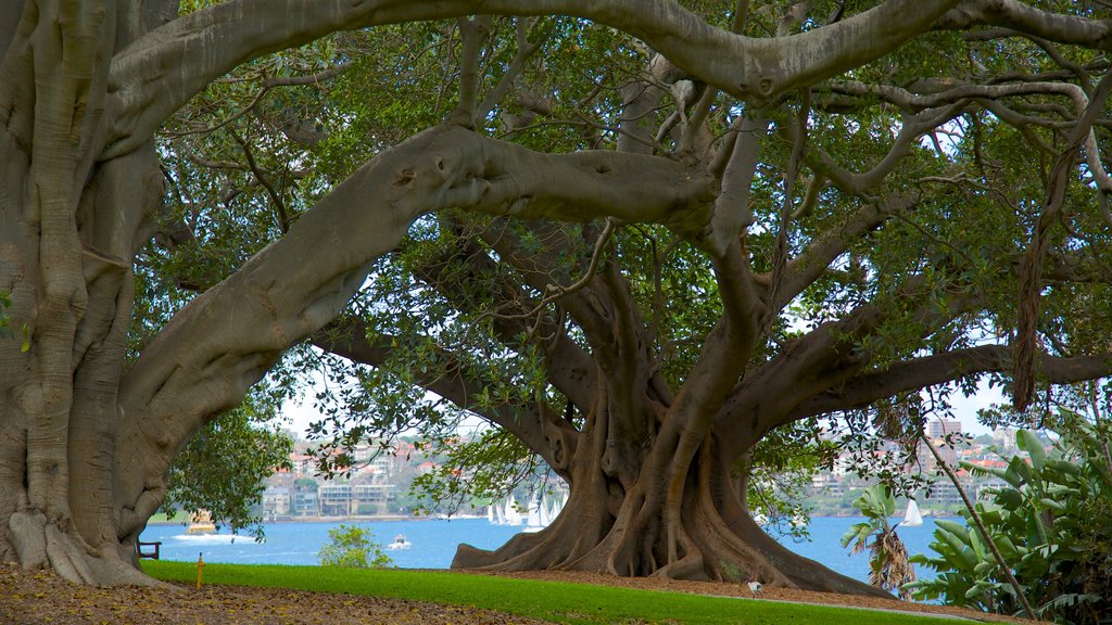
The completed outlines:
{"type": "MultiPolygon", "coordinates": [[[[191,563],[145,560],[142,566],[148,575],[159,579],[190,584],[197,579],[197,566],[191,563]]],[[[941,618],[759,599],[705,597],[588,584],[399,569],[206,564],[203,582],[465,605],[573,624],[953,625],[954,623],[941,618]]]]}

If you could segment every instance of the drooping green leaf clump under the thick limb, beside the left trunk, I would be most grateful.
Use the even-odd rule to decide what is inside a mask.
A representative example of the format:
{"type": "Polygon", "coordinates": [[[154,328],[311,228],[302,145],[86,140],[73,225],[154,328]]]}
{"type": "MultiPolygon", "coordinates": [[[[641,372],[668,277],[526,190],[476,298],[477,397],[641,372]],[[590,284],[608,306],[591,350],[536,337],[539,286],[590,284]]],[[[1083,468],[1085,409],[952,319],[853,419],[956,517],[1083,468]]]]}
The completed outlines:
{"type": "Polygon", "coordinates": [[[294,442],[272,424],[276,407],[258,394],[198,431],[170,466],[161,512],[207,509],[217,524],[262,538],[262,518],[252,512],[262,498],[264,480],[275,469],[290,468],[294,442]]]}

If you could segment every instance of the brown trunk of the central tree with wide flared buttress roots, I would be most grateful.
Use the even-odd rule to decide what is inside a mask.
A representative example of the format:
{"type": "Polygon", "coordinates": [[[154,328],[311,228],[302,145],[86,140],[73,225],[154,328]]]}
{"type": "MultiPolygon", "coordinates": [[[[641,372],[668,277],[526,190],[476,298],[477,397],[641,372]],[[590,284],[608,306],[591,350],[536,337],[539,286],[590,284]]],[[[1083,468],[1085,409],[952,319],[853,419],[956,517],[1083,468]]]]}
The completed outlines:
{"type": "MultiPolygon", "coordinates": [[[[722,265],[723,271],[737,269],[722,265]]],[[[580,428],[570,429],[563,417],[542,410],[547,447],[532,445],[569,484],[568,503],[548,528],[518,535],[497,550],[461,545],[453,567],[564,568],[885,594],[793,554],[749,516],[746,477],[735,475],[735,462],[767,431],[757,429],[767,427],[758,424],[775,420],[762,420],[763,410],[781,415],[794,404],[773,398],[788,396],[786,390],[798,379],[787,375],[746,397],[747,387],[731,381],[745,358],[727,340],[731,331],[719,325],[687,383],[673,396],[646,347],[645,325],[633,307],[623,306],[627,286],[610,275],[593,287],[590,299],[604,310],[595,310],[597,324],[586,325],[613,331],[609,345],[596,335],[596,355],[602,356],[596,356],[594,379],[582,388],[589,399],[573,401],[585,419],[580,428]],[[735,401],[726,403],[727,395],[735,401]],[[719,423],[716,417],[725,410],[731,415],[719,423]]],[[[564,304],[576,309],[573,302],[564,304]]],[[[574,383],[556,384],[566,389],[574,383]]]]}

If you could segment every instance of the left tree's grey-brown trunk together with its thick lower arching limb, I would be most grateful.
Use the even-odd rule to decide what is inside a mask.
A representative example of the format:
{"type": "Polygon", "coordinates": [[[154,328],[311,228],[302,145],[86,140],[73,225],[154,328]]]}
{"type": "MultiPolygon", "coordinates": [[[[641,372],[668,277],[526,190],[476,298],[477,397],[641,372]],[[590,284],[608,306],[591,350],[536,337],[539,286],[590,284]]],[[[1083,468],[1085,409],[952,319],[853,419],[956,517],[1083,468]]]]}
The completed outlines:
{"type": "MultiPolygon", "coordinates": [[[[132,116],[148,111],[141,97],[120,96],[136,77],[110,73],[148,59],[148,48],[125,44],[176,10],[131,4],[29,0],[14,32],[0,31],[0,291],[10,294],[2,312],[12,330],[0,338],[3,562],[75,582],[149,582],[133,545],[175,455],[342,310],[370,262],[421,215],[457,207],[698,227],[714,198],[709,177],[664,159],[548,156],[434,128],[359,169],[129,363],[132,260],[155,232],[163,178],[149,132],[120,135],[135,121],[129,105],[140,106],[132,116]]],[[[228,43],[251,53],[272,46],[228,43]]],[[[221,51],[224,65],[200,75],[244,56],[221,51]]],[[[157,71],[191,80],[175,67],[157,71]]],[[[167,99],[156,83],[137,88],[157,107],[188,97],[167,99]]]]}

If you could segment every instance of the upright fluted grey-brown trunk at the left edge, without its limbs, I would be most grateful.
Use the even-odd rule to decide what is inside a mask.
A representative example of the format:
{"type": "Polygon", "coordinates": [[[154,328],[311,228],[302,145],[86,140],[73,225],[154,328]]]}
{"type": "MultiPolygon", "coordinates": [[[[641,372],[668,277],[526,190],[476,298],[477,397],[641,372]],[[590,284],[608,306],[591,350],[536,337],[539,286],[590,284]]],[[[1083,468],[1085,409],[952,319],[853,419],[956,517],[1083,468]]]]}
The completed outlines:
{"type": "Polygon", "coordinates": [[[149,142],[96,155],[107,60],[176,6],[10,4],[0,40],[0,290],[12,321],[0,340],[0,558],[75,581],[142,582],[119,539],[115,445],[131,259],[151,232],[161,172],[149,142]]]}

